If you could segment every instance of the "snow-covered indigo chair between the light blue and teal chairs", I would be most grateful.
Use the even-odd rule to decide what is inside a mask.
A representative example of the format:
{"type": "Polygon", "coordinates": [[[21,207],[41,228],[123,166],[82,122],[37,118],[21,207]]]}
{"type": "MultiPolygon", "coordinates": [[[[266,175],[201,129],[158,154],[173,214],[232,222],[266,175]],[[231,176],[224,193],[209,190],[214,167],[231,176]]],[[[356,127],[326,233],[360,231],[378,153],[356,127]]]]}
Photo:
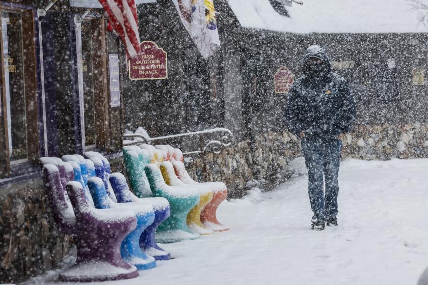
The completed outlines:
{"type": "MultiPolygon", "coordinates": [[[[85,155],[88,155],[86,153],[85,155]]],[[[141,198],[133,195],[126,183],[125,177],[119,173],[111,174],[110,163],[100,153],[90,152],[88,155],[95,165],[96,176],[104,182],[107,194],[118,203],[143,203],[149,204],[154,210],[154,221],[149,225],[140,237],[140,247],[143,252],[155,258],[155,260],[169,260],[171,254],[156,244],[155,231],[170,215],[170,206],[168,201],[162,197],[141,196],[141,198]],[[110,179],[105,181],[106,177],[110,179]],[[113,187],[112,187],[113,186],[113,187]]],[[[148,185],[148,183],[147,183],[148,185]]]]}

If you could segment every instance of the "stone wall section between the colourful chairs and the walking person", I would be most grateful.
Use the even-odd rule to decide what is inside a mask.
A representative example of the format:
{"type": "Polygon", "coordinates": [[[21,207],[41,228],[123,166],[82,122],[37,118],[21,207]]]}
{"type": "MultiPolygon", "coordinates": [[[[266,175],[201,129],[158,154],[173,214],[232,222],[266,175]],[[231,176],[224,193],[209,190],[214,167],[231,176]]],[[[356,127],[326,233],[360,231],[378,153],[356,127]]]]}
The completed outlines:
{"type": "Polygon", "coordinates": [[[272,188],[291,176],[288,162],[300,154],[299,141],[287,132],[269,132],[254,139],[239,141],[220,154],[206,153],[187,157],[186,166],[195,180],[222,181],[229,198],[245,195],[257,186],[272,188]]]}

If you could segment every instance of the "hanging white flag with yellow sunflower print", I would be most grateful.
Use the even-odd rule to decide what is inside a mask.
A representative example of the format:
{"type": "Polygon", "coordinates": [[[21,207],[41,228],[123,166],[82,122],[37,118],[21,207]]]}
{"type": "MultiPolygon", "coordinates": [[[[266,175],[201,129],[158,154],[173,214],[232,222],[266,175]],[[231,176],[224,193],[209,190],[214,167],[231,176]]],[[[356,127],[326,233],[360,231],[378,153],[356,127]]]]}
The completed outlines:
{"type": "Polygon", "coordinates": [[[173,2],[196,47],[205,59],[209,58],[220,49],[213,0],[173,0],[173,2]]]}

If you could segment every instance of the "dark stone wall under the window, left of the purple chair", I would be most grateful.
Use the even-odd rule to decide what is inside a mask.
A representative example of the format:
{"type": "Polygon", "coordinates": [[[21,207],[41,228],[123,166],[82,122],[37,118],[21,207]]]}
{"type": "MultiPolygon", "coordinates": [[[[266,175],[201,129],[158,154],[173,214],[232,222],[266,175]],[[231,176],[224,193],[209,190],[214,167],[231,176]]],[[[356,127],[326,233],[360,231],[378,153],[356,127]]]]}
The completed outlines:
{"type": "Polygon", "coordinates": [[[0,283],[15,283],[56,268],[69,237],[52,218],[41,179],[0,188],[0,283]]]}

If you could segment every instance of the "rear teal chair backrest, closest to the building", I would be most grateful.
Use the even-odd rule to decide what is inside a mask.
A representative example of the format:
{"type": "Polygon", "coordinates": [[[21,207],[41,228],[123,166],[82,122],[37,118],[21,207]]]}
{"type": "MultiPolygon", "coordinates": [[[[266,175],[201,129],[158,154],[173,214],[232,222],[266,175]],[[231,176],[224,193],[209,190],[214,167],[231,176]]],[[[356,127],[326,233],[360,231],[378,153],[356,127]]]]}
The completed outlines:
{"type": "Polygon", "coordinates": [[[152,197],[153,193],[143,170],[145,159],[142,150],[138,147],[123,147],[123,160],[133,192],[140,198],[152,197]]]}

